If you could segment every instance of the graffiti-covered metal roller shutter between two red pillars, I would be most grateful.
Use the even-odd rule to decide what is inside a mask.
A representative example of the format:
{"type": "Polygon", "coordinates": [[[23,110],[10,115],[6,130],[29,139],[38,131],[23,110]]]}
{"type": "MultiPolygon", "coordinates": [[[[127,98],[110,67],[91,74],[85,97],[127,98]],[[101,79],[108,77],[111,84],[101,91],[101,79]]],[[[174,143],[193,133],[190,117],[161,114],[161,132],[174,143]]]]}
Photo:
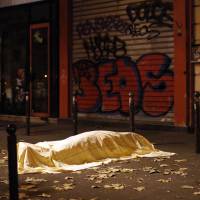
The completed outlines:
{"type": "MultiPolygon", "coordinates": [[[[74,0],[73,73],[79,111],[173,121],[172,0],[74,0]]],[[[113,116],[113,115],[112,115],[113,116]]]]}

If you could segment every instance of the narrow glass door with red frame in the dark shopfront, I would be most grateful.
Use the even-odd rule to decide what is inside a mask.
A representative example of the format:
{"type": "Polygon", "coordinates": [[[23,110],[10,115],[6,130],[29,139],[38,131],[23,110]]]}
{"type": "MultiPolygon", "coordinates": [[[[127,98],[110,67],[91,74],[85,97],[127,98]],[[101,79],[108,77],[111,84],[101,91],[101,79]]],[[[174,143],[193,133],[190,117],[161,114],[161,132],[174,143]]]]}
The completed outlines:
{"type": "Polygon", "coordinates": [[[48,117],[49,110],[49,24],[30,27],[30,102],[32,116],[48,117]]]}

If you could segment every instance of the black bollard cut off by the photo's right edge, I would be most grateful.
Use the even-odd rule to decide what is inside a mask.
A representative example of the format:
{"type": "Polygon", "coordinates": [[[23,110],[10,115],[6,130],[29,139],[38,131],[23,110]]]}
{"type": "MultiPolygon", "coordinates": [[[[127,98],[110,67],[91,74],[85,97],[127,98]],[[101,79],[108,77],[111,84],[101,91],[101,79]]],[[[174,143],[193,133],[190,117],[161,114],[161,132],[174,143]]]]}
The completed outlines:
{"type": "Polygon", "coordinates": [[[200,153],[200,92],[195,92],[194,113],[195,113],[196,153],[200,153]]]}

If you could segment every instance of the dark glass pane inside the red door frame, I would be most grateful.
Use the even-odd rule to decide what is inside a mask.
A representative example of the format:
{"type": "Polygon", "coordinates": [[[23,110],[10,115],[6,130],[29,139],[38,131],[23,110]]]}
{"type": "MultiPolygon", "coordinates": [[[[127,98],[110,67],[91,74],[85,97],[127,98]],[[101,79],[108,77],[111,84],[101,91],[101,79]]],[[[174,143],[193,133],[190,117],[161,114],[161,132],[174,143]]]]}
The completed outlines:
{"type": "Polygon", "coordinates": [[[48,27],[32,29],[32,112],[48,113],[48,27]]]}

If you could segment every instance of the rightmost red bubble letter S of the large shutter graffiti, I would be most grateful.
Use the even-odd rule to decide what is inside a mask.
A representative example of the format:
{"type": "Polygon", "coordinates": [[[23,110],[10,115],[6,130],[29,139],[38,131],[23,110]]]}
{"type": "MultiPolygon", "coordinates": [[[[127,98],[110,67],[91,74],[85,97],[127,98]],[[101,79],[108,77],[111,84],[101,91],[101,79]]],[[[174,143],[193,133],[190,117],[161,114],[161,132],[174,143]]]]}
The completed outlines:
{"type": "Polygon", "coordinates": [[[163,54],[142,56],[137,66],[143,86],[143,112],[150,116],[167,113],[173,105],[173,76],[171,60],[163,54]]]}

